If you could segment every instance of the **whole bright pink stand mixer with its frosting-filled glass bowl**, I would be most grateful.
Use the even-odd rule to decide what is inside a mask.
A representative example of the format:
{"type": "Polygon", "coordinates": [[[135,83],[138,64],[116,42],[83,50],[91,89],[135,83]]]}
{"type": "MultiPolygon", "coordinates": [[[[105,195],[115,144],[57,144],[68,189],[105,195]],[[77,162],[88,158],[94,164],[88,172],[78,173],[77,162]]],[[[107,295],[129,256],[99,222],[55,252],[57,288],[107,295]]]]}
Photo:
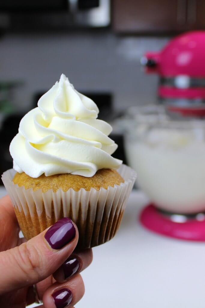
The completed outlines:
{"type": "Polygon", "coordinates": [[[141,63],[160,76],[168,119],[143,129],[138,123],[136,147],[129,149],[151,200],[140,221],[156,233],[205,241],[205,31],[179,35],[141,63]]]}

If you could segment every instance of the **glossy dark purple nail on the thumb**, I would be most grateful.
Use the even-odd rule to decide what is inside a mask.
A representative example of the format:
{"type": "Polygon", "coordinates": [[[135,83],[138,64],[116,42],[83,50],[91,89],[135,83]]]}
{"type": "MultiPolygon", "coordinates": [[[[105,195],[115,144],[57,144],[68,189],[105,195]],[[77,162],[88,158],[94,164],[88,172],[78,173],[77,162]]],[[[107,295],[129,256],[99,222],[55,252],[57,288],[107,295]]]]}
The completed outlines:
{"type": "Polygon", "coordinates": [[[61,249],[76,235],[73,221],[64,217],[52,225],[45,233],[45,239],[53,249],[61,249]]]}

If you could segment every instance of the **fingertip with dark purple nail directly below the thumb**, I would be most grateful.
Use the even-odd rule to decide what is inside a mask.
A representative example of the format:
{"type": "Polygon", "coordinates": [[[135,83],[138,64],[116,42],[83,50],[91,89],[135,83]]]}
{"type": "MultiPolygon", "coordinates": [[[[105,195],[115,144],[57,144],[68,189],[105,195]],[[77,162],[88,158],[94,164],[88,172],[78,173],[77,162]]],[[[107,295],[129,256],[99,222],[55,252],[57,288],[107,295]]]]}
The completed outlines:
{"type": "Polygon", "coordinates": [[[72,255],[57,269],[53,277],[57,282],[65,282],[74,274],[80,273],[90,265],[93,260],[92,249],[85,249],[79,253],[73,252],[72,255]]]}

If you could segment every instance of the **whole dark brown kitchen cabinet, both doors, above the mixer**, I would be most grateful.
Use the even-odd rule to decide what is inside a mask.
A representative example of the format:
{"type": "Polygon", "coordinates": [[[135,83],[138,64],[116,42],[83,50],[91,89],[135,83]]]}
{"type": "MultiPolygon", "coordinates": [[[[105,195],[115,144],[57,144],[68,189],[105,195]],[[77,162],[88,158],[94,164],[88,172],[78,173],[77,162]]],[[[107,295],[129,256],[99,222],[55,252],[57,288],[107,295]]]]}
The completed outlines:
{"type": "Polygon", "coordinates": [[[113,0],[112,25],[119,33],[168,33],[205,29],[204,0],[113,0]]]}

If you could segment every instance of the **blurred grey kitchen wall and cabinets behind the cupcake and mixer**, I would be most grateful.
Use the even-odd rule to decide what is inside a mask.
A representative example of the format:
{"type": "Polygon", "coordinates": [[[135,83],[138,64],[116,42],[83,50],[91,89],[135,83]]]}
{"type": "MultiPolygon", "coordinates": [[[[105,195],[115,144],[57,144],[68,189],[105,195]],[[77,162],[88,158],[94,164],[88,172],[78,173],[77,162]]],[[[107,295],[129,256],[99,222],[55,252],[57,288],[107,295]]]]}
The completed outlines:
{"type": "MultiPolygon", "coordinates": [[[[155,103],[158,76],[144,74],[140,58],[178,33],[204,29],[204,13],[203,0],[2,0],[0,172],[12,168],[9,144],[22,115],[61,73],[110,123],[129,106],[155,103]]],[[[112,138],[126,162],[115,127],[112,138]]]]}

